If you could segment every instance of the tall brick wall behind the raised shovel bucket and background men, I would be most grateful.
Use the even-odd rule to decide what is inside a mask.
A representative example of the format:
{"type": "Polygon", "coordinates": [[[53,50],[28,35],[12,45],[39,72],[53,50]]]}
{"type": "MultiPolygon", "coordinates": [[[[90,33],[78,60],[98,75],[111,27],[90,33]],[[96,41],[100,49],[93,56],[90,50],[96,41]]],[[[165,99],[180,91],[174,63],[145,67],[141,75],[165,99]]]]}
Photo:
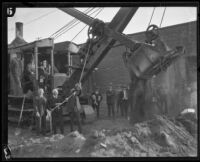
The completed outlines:
{"type": "MultiPolygon", "coordinates": [[[[173,63],[166,72],[159,74],[155,79],[157,85],[160,84],[166,88],[168,106],[176,107],[171,109],[170,114],[175,115],[186,107],[181,102],[184,100],[183,93],[185,93],[183,86],[187,83],[187,80],[190,80],[186,69],[187,56],[193,56],[195,59],[197,56],[196,22],[162,28],[160,35],[171,49],[176,46],[184,46],[186,49],[186,56],[173,63]]],[[[144,32],[132,34],[129,37],[141,42],[145,40],[144,32]]],[[[110,82],[113,83],[115,88],[120,84],[129,84],[129,73],[122,60],[124,51],[125,47],[123,46],[112,48],[99,64],[98,71],[95,72],[95,82],[102,92],[105,92],[110,82]]],[[[195,72],[193,71],[194,76],[197,75],[195,72]]]]}

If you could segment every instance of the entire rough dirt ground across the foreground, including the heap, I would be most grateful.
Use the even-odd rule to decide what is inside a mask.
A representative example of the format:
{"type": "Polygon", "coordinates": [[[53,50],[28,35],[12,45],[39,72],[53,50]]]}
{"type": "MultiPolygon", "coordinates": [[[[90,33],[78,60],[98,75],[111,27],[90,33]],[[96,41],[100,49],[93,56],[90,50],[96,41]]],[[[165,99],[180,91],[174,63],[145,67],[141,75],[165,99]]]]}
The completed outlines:
{"type": "Polygon", "coordinates": [[[197,156],[197,124],[184,118],[155,119],[130,125],[125,118],[96,119],[88,116],[83,133],[36,136],[28,128],[16,136],[9,124],[8,144],[12,157],[187,157],[197,156]]]}

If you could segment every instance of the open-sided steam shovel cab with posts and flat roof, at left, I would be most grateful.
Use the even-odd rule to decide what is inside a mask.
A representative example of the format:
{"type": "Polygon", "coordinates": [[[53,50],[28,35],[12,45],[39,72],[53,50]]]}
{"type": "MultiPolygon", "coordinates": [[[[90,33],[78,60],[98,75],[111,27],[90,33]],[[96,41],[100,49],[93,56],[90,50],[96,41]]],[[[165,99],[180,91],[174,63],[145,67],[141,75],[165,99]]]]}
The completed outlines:
{"type": "MultiPolygon", "coordinates": [[[[22,78],[21,78],[21,91],[22,94],[16,95],[12,92],[8,94],[8,120],[11,122],[18,122],[19,114],[22,110],[22,103],[24,100],[24,109],[23,109],[23,117],[22,122],[26,124],[30,124],[32,121],[32,116],[34,113],[34,103],[33,97],[39,86],[39,66],[42,60],[47,60],[50,64],[51,71],[48,77],[48,88],[47,93],[51,92],[51,90],[59,85],[55,85],[54,79],[54,43],[53,39],[47,38],[42,40],[37,40],[32,43],[27,43],[25,45],[19,45],[16,47],[8,48],[9,56],[19,53],[21,55],[21,62],[23,64],[22,69],[22,78]],[[29,65],[32,65],[32,70],[34,71],[31,76],[27,76],[26,71],[29,65]]],[[[11,61],[11,60],[10,60],[11,61]]],[[[10,74],[9,74],[10,76],[10,74]]],[[[63,77],[63,75],[62,75],[63,77]]],[[[66,80],[66,76],[64,76],[66,80]]],[[[10,80],[9,80],[10,82],[10,80]]],[[[62,83],[60,83],[62,84],[62,83]]],[[[9,89],[15,89],[10,84],[9,89]]],[[[48,95],[48,94],[46,94],[48,95]]]]}

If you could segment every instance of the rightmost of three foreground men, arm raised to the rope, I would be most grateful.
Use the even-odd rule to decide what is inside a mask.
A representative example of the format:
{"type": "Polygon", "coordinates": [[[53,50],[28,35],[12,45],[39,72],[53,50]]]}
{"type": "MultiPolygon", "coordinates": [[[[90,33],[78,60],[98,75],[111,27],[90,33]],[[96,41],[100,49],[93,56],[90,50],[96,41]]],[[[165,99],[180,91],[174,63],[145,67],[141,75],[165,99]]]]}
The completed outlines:
{"type": "Polygon", "coordinates": [[[74,130],[74,120],[76,119],[78,131],[82,133],[82,126],[81,126],[81,119],[80,119],[80,112],[81,112],[81,105],[79,102],[79,96],[81,95],[81,85],[76,84],[75,88],[71,90],[72,97],[68,100],[68,111],[70,114],[70,128],[71,132],[74,130]]]}

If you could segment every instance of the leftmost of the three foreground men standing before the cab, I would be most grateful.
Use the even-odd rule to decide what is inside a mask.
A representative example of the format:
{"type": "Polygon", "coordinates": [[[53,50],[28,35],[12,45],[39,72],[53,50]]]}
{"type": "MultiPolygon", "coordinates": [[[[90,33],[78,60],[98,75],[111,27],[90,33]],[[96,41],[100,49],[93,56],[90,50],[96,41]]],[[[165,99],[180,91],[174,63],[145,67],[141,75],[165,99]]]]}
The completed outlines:
{"type": "Polygon", "coordinates": [[[46,133],[46,98],[44,97],[44,90],[40,88],[38,90],[38,96],[35,100],[36,109],[36,131],[37,135],[46,133]]]}

